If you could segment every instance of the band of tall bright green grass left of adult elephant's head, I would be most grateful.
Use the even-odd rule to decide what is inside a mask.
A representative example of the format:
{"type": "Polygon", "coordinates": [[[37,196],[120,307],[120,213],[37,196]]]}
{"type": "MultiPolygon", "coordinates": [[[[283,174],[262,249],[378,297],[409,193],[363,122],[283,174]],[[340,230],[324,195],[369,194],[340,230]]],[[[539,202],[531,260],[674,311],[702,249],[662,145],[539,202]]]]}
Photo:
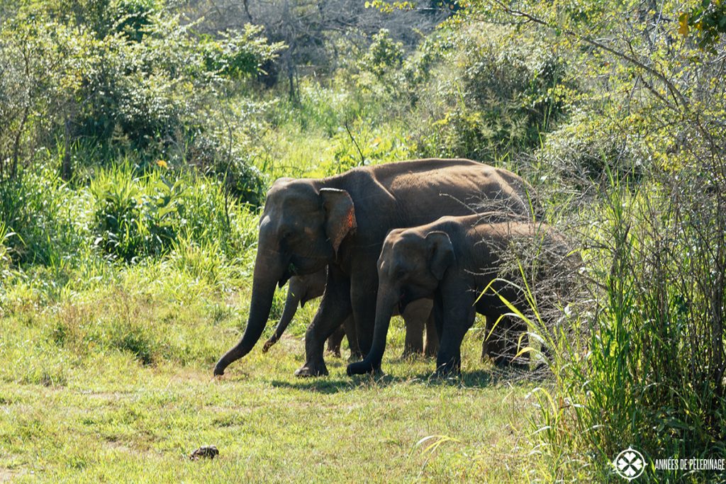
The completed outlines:
{"type": "Polygon", "coordinates": [[[224,181],[164,165],[126,161],[96,170],[89,186],[49,166],[0,183],[0,274],[36,264],[49,269],[38,277],[62,282],[70,269],[96,271],[99,255],[138,262],[179,237],[236,255],[254,245],[255,216],[224,181]]]}

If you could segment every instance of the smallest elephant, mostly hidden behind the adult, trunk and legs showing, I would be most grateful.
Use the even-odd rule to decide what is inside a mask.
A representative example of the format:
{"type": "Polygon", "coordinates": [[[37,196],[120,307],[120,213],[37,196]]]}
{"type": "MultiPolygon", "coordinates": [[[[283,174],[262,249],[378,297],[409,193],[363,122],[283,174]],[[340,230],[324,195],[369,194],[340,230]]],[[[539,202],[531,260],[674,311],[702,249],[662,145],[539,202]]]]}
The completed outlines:
{"type": "MultiPolygon", "coordinates": [[[[282,317],[274,334],[269,337],[262,347],[262,351],[266,353],[272,345],[277,343],[285,332],[287,326],[293,321],[295,312],[300,307],[304,307],[311,299],[319,298],[325,292],[325,281],[327,279],[327,268],[323,268],[314,274],[306,276],[293,276],[287,284],[287,299],[285,300],[285,308],[282,310],[282,317]]],[[[433,323],[433,315],[431,307],[433,301],[422,299],[414,301],[407,305],[402,317],[406,324],[406,340],[404,342],[403,358],[408,358],[416,354],[424,353],[425,356],[434,356],[439,349],[439,336],[436,335],[436,327],[433,323]],[[426,327],[426,345],[423,345],[423,328],[426,327]]],[[[399,311],[394,311],[393,316],[398,316],[399,311]]],[[[351,350],[352,361],[362,358],[360,348],[358,347],[358,339],[355,334],[355,325],[351,316],[346,318],[343,326],[335,330],[333,335],[327,338],[327,352],[340,358],[340,344],[343,342],[343,336],[348,338],[348,348],[351,350]]]]}

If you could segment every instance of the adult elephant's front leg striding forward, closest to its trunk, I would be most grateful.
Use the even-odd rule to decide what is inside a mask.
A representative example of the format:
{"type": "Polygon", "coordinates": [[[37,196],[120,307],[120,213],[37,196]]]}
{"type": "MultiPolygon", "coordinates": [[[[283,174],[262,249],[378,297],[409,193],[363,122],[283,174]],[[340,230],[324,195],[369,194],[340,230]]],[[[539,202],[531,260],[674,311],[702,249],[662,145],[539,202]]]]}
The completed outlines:
{"type": "Polygon", "coordinates": [[[350,280],[340,269],[328,267],[325,294],[305,333],[305,364],[295,371],[296,376],[319,377],[328,374],[323,358],[325,340],[351,313],[350,287],[350,280]]]}

